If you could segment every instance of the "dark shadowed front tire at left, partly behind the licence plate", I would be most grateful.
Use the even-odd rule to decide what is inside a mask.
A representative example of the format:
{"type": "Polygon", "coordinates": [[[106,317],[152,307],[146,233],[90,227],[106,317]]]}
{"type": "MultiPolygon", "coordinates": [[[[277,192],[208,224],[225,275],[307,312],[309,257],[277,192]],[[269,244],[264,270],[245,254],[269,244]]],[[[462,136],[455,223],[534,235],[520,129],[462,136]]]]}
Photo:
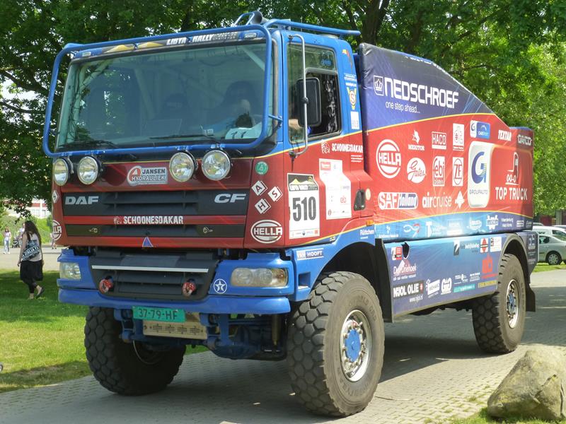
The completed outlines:
{"type": "Polygon", "coordinates": [[[94,377],[118,394],[135,396],[165,389],[183,362],[185,346],[155,351],[143,343],[125,343],[121,333],[122,324],[114,319],[114,310],[90,308],[84,346],[94,377]]]}

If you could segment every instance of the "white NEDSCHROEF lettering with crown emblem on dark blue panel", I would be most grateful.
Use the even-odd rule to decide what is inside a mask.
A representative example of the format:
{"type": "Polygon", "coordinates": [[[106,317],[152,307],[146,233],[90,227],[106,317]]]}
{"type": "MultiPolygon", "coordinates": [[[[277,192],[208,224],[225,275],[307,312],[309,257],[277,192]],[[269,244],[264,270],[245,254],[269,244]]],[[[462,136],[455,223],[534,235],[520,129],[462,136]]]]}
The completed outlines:
{"type": "Polygon", "coordinates": [[[458,103],[458,92],[425,86],[424,84],[408,83],[388,76],[374,75],[374,92],[397,100],[421,103],[454,109],[458,103]]]}

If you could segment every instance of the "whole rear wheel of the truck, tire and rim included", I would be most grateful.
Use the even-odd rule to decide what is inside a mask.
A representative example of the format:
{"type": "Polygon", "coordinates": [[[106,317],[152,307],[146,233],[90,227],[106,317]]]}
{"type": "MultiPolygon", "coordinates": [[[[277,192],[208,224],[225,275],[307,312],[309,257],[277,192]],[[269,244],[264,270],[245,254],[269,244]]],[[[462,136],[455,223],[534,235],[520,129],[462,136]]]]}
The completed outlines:
{"type": "Polygon", "coordinates": [[[521,343],[526,317],[526,290],[519,259],[504,254],[497,292],[473,301],[475,340],[487,353],[509,353],[521,343]]]}

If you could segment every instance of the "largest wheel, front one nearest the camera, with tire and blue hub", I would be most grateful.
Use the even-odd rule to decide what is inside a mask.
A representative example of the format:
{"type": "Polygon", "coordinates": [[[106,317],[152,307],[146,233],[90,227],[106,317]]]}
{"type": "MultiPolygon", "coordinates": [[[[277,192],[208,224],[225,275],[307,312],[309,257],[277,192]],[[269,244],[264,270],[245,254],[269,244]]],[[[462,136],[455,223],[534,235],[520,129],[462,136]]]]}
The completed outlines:
{"type": "Polygon", "coordinates": [[[356,273],[323,273],[291,313],[287,365],[304,406],[326,416],[362,411],[383,366],[383,318],[374,288],[356,273]]]}

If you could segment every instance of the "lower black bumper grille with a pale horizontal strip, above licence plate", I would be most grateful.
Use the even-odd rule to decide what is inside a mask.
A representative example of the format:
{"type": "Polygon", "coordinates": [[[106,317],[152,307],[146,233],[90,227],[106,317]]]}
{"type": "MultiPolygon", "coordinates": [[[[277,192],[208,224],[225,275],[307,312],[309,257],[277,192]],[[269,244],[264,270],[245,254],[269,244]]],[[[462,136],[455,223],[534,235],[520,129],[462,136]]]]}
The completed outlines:
{"type": "Polygon", "coordinates": [[[95,283],[108,276],[114,281],[108,296],[187,302],[207,295],[218,262],[212,252],[148,254],[98,249],[90,258],[95,283]],[[197,290],[185,298],[181,288],[188,279],[195,281],[197,290]]]}

